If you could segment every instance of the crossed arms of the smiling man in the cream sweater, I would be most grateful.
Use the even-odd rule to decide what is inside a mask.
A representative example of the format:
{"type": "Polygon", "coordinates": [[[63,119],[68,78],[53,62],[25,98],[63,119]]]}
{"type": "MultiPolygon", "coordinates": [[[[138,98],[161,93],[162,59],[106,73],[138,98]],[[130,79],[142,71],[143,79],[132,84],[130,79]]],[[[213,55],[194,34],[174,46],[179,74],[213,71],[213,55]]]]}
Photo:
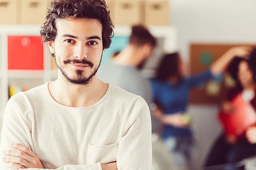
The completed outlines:
{"type": "MultiPolygon", "coordinates": [[[[127,168],[151,169],[150,112],[146,102],[136,102],[134,104],[134,107],[141,108],[141,106],[144,107],[140,111],[138,110],[137,114],[131,115],[126,120],[128,123],[125,129],[127,130],[118,141],[116,162],[109,164],[100,164],[100,162],[79,165],[66,164],[58,166],[56,170],[116,170],[117,167],[119,170],[127,168]]],[[[40,168],[46,168],[42,166],[40,155],[34,154],[36,152],[34,151],[30,130],[32,123],[26,111],[21,110],[24,107],[16,107],[11,98],[6,108],[1,134],[0,169],[17,170],[28,168],[28,170],[39,170],[40,168]],[[15,144],[11,145],[10,148],[11,143],[15,144]]],[[[52,162],[50,163],[54,164],[56,158],[51,160],[52,162]]],[[[50,167],[54,167],[54,165],[50,167]]]]}

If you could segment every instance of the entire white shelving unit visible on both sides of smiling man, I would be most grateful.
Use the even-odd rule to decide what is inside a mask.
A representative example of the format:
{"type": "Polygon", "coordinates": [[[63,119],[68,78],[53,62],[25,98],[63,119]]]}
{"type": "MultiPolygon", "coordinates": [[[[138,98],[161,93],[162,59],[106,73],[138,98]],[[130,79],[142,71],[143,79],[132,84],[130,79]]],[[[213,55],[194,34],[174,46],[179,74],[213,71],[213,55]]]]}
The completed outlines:
{"type": "MultiPolygon", "coordinates": [[[[162,40],[161,53],[170,53],[177,50],[177,30],[173,26],[152,26],[150,32],[162,40]]],[[[116,26],[115,36],[129,37],[130,26],[116,26]]],[[[0,118],[8,101],[8,86],[18,84],[33,88],[40,84],[55,80],[57,70],[51,68],[51,55],[48,47],[44,47],[44,69],[43,70],[8,70],[8,36],[40,36],[40,25],[0,25],[0,118]]],[[[108,49],[107,49],[108,50],[108,49]]],[[[156,50],[157,51],[157,50],[156,50]]],[[[158,53],[158,52],[156,52],[158,53]]],[[[158,57],[152,57],[148,62],[155,63],[158,57]]],[[[146,74],[150,70],[144,70],[146,74]]]]}

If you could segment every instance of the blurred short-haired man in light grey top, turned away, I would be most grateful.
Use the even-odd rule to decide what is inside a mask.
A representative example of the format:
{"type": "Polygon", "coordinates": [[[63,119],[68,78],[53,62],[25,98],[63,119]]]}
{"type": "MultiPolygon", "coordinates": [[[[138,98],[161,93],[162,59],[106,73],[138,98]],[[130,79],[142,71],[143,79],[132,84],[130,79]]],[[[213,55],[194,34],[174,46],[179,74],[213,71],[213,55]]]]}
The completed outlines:
{"type": "MultiPolygon", "coordinates": [[[[156,39],[142,25],[132,27],[128,46],[114,53],[106,64],[98,70],[98,77],[128,92],[144,98],[148,105],[152,102],[150,81],[143,78],[140,68],[150,57],[156,47],[156,39]]],[[[124,96],[125,98],[125,96],[124,96]]],[[[170,161],[172,158],[164,147],[162,140],[156,135],[159,121],[152,118],[152,170],[175,170],[170,161]]]]}

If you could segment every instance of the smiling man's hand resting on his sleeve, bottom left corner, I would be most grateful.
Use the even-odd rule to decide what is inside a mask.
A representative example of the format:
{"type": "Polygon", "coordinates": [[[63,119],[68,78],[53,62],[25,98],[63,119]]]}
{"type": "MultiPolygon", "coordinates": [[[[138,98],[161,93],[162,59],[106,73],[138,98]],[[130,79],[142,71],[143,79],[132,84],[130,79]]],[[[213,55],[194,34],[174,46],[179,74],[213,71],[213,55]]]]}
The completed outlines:
{"type": "Polygon", "coordinates": [[[15,150],[4,150],[3,161],[8,163],[9,168],[25,169],[25,168],[44,168],[38,156],[25,145],[14,143],[11,147],[15,150]]]}

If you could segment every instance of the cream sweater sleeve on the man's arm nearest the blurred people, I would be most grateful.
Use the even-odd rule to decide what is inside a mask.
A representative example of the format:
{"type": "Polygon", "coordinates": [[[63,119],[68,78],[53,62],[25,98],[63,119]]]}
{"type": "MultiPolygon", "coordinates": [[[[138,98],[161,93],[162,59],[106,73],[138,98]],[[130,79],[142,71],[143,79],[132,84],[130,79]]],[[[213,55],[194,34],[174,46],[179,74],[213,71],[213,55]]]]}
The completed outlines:
{"type": "Polygon", "coordinates": [[[142,98],[135,103],[127,119],[126,133],[119,143],[116,156],[118,170],[151,170],[150,111],[142,98]]]}

